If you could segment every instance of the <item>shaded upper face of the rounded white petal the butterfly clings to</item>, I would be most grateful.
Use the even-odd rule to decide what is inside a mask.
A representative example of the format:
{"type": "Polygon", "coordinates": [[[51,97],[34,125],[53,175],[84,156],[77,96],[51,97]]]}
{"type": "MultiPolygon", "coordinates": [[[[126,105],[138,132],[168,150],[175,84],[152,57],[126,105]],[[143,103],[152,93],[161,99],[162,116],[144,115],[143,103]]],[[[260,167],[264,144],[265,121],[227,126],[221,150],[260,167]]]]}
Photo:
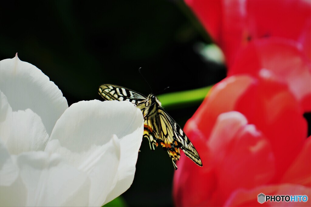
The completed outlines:
{"type": "Polygon", "coordinates": [[[142,112],[128,101],[79,101],[63,113],[50,139],[81,152],[109,142],[114,134],[122,138],[134,133],[142,123],[142,112]]]}

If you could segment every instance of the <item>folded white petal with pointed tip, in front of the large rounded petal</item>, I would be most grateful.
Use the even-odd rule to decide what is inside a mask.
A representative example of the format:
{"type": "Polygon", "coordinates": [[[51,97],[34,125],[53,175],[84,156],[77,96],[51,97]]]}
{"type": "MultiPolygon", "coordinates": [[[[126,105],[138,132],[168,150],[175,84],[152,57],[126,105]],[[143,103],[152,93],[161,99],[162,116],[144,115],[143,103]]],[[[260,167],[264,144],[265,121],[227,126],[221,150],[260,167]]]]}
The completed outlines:
{"type": "Polygon", "coordinates": [[[67,158],[79,170],[88,174],[91,180],[89,206],[101,206],[108,193],[116,185],[120,161],[120,140],[114,135],[103,146],[91,146],[88,151],[74,153],[60,146],[57,139],[50,141],[47,152],[57,152],[67,158]]]}

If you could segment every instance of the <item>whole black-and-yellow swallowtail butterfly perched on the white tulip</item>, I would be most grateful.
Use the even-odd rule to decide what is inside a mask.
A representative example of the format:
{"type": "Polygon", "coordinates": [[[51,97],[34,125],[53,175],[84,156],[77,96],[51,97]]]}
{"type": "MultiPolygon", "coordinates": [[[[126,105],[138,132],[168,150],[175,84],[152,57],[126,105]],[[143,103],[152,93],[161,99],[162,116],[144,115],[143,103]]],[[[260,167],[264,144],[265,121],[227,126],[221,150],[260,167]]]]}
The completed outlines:
{"type": "Polygon", "coordinates": [[[161,102],[154,94],[151,93],[146,97],[128,88],[111,84],[101,85],[98,93],[104,100],[130,101],[142,110],[144,116],[143,137],[148,139],[152,151],[160,144],[169,154],[175,169],[177,169],[176,160],[180,158],[180,149],[193,162],[202,166],[197,150],[181,127],[161,107],[161,102]]]}

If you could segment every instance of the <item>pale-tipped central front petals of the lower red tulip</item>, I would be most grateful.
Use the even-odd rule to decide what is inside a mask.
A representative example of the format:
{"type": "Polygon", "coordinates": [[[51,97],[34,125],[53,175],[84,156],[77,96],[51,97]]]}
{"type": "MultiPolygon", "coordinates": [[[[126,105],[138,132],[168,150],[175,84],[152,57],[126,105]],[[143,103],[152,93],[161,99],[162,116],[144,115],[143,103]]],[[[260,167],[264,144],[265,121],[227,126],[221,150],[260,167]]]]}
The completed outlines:
{"type": "Polygon", "coordinates": [[[223,200],[237,188],[250,189],[268,183],[274,176],[269,140],[254,125],[247,124],[239,112],[219,115],[209,141],[216,162],[215,201],[223,200]]]}

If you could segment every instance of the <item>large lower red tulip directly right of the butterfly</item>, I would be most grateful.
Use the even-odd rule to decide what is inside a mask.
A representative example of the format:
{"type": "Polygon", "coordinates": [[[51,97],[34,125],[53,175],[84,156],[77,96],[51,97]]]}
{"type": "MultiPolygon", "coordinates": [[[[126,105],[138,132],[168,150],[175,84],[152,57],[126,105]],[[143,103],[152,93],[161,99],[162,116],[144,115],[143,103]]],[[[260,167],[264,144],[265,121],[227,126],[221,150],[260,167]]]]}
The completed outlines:
{"type": "Polygon", "coordinates": [[[176,206],[259,205],[260,193],[310,195],[311,138],[302,114],[287,86],[265,76],[216,84],[184,128],[203,167],[180,159],[176,206]]]}

